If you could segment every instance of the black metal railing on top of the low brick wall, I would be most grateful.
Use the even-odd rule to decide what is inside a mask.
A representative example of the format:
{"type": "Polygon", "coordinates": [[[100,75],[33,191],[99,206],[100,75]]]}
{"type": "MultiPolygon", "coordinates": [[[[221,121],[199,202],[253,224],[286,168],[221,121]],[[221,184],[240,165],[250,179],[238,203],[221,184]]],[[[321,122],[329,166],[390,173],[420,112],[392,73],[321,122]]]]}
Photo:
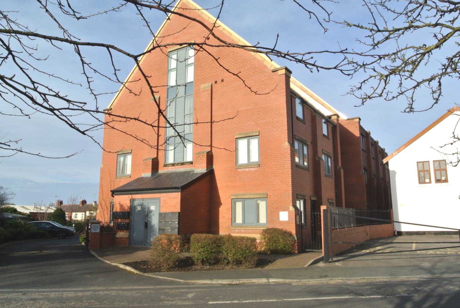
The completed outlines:
{"type": "Polygon", "coordinates": [[[375,221],[368,218],[391,220],[391,214],[389,210],[331,208],[330,213],[332,228],[357,227],[390,223],[384,221],[375,221]]]}

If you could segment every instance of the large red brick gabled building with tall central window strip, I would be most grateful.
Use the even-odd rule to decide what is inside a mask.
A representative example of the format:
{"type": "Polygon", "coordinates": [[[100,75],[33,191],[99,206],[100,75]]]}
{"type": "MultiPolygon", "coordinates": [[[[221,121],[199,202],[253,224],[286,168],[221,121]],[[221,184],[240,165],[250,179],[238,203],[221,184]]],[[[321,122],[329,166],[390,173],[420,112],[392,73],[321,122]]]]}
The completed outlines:
{"type": "MultiPolygon", "coordinates": [[[[174,10],[210,27],[215,21],[190,0],[179,0],[174,10]]],[[[249,44],[217,24],[220,37],[249,44]]],[[[161,40],[155,44],[167,44],[200,41],[207,33],[201,25],[171,15],[156,35],[161,40]]],[[[218,41],[210,37],[207,43],[218,41]]],[[[346,116],[265,55],[236,48],[207,50],[219,56],[219,63],[190,46],[157,48],[140,61],[153,85],[167,84],[155,88],[155,99],[180,132],[167,128],[149,91],[141,91],[141,82],[129,84],[140,95],[121,88],[106,109],[159,122],[154,130],[136,121],[104,128],[107,151],[102,154],[98,219],[117,223],[120,245],[149,245],[162,232],[258,237],[267,227],[288,229],[299,244],[308,243],[311,233],[321,229],[311,226],[311,211],[321,205],[347,205],[348,178],[342,165],[355,157],[341,147],[346,116]],[[247,86],[220,64],[240,72],[247,86]],[[249,87],[266,94],[256,95],[249,87]],[[200,124],[189,124],[194,122],[200,124]]],[[[135,68],[127,77],[139,79],[135,68]]],[[[111,119],[108,115],[105,120],[111,119]]],[[[349,177],[364,183],[362,173],[353,171],[349,177]]],[[[352,202],[353,207],[361,203],[352,202]]]]}

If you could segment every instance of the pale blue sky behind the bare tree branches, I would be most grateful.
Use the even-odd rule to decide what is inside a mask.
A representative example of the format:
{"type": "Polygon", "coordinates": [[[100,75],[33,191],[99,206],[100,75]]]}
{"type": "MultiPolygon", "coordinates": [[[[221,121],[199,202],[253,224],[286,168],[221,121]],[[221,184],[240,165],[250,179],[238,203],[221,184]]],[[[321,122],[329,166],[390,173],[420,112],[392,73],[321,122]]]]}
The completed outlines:
{"type": "MultiPolygon", "coordinates": [[[[85,14],[102,11],[118,4],[117,1],[109,0],[80,2],[79,8],[85,14]]],[[[196,2],[205,8],[219,4],[218,0],[196,0],[196,2]]],[[[333,18],[336,20],[346,18],[362,23],[367,20],[361,10],[360,1],[342,2],[344,3],[336,6],[330,5],[334,11],[333,18]]],[[[305,1],[305,4],[307,3],[311,1],[305,1]]],[[[36,1],[4,0],[2,5],[5,10],[20,11],[14,13],[14,16],[29,25],[31,29],[37,29],[41,33],[59,33],[51,19],[39,9],[36,1]]],[[[215,9],[210,12],[217,14],[215,9]]],[[[161,25],[164,14],[145,13],[151,21],[152,29],[156,30],[161,25]]],[[[62,17],[62,14],[57,12],[56,15],[62,17]]],[[[132,53],[142,52],[151,39],[149,31],[132,9],[125,8],[121,12],[100,15],[78,22],[67,17],[62,17],[61,20],[64,26],[82,41],[111,43],[132,53]]],[[[271,46],[275,42],[276,34],[279,33],[277,48],[280,50],[300,52],[337,49],[338,42],[341,46],[353,48],[357,47],[355,38],[360,36],[356,31],[343,29],[332,23],[326,25],[329,31],[323,34],[317,23],[308,19],[308,15],[290,0],[252,0],[244,3],[240,0],[226,0],[221,20],[247,41],[260,42],[263,46],[271,46]]],[[[429,37],[429,34],[426,37],[429,37]]],[[[42,54],[50,54],[50,60],[46,63],[48,70],[55,71],[61,76],[68,76],[74,81],[84,81],[81,76],[81,64],[72,50],[64,47],[63,51],[59,51],[49,44],[38,43],[42,54]]],[[[82,48],[82,51],[98,68],[106,72],[110,71],[104,51],[90,48],[82,48]]],[[[116,56],[115,59],[117,67],[121,69],[119,75],[121,79],[124,79],[133,64],[131,60],[120,56],[116,56]]],[[[371,131],[373,137],[379,140],[380,145],[385,147],[389,153],[458,102],[456,101],[458,91],[455,91],[455,83],[452,81],[444,89],[444,96],[440,104],[423,113],[402,113],[405,107],[404,100],[391,103],[375,100],[367,105],[354,107],[360,102],[344,94],[358,79],[350,80],[334,71],[310,73],[300,64],[293,64],[283,59],[274,60],[280,65],[288,66],[293,71],[293,76],[345,115],[360,116],[362,126],[371,131]]],[[[333,58],[324,57],[321,60],[332,63],[333,58]]],[[[428,66],[425,69],[430,70],[431,68],[428,66]]],[[[99,92],[113,92],[119,87],[119,85],[99,78],[95,78],[93,84],[99,92]]],[[[69,87],[63,84],[59,86],[59,89],[74,98],[85,99],[90,105],[95,104],[84,87],[69,87]]],[[[99,105],[105,108],[112,97],[113,95],[100,97],[99,105]]],[[[430,105],[431,100],[429,97],[422,96],[418,103],[421,108],[430,105]]],[[[2,106],[5,105],[2,102],[2,106]]],[[[7,110],[6,108],[2,107],[3,110],[7,110]]],[[[80,154],[67,159],[45,159],[26,154],[17,154],[14,157],[3,159],[0,163],[0,185],[16,192],[14,203],[31,204],[40,201],[47,203],[57,199],[54,198],[55,195],[65,200],[71,194],[79,194],[88,202],[93,199],[97,200],[102,150],[91,139],[45,115],[34,115],[31,119],[0,115],[0,136],[3,135],[6,135],[6,139],[22,139],[21,145],[25,150],[41,152],[49,156],[64,156],[83,150],[80,154]]],[[[94,136],[102,141],[102,131],[95,132],[94,136]]]]}

